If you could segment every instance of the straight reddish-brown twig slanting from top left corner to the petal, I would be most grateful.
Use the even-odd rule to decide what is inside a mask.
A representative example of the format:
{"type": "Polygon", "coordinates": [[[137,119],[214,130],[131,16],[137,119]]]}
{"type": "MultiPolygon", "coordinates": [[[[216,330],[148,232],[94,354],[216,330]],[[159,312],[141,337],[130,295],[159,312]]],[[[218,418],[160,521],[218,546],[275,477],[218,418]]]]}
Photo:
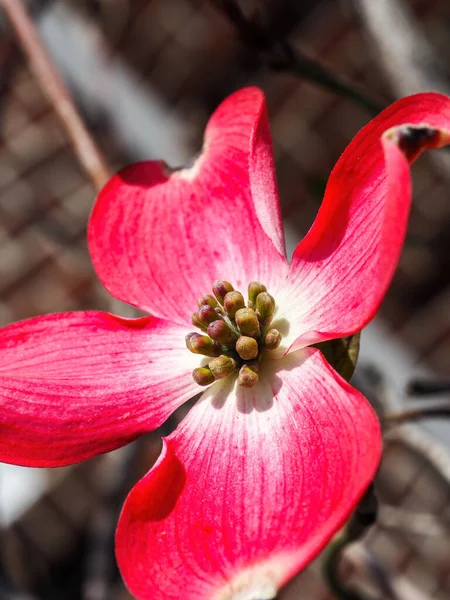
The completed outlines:
{"type": "Polygon", "coordinates": [[[80,164],[97,189],[111,176],[108,164],[89,134],[60,73],[55,68],[22,0],[0,0],[30,67],[72,142],[80,164]]]}

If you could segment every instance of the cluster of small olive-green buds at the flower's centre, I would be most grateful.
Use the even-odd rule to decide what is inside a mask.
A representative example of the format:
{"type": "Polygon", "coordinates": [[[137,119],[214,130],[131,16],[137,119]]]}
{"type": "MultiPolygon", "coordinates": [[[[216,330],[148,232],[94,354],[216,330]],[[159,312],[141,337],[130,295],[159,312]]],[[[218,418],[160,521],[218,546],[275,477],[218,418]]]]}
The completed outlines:
{"type": "Polygon", "coordinates": [[[198,310],[191,317],[192,324],[203,333],[186,336],[191,352],[212,360],[194,369],[192,377],[206,386],[238,373],[238,385],[253,387],[259,379],[261,354],[281,343],[280,332],[270,329],[275,300],[259,281],[249,284],[247,304],[228,281],[216,281],[212,291],[198,300],[198,310]]]}

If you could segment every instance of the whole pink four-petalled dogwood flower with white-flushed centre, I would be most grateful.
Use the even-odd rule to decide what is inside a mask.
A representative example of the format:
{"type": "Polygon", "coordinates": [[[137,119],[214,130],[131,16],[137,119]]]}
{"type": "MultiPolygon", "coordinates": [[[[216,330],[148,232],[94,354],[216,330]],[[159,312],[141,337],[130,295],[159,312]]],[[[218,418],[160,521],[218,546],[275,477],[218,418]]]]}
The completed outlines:
{"type": "Polygon", "coordinates": [[[374,316],[405,235],[406,158],[448,142],[449,123],[438,94],[369,123],[288,264],[264,97],[238,91],[192,167],[132,165],[94,206],[100,279],[152,316],[65,313],[2,330],[4,462],[112,450],[201,391],[193,371],[206,384],[120,517],[118,563],[138,598],[272,598],[348,518],[376,471],[379,426],[311,345],[374,316]]]}

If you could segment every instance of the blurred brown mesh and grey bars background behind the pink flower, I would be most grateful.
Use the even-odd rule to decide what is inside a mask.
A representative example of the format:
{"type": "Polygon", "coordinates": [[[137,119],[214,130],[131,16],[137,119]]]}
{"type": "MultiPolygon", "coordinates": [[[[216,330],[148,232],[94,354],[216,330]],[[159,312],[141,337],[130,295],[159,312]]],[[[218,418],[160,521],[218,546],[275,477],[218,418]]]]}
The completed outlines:
{"type": "MultiPolygon", "coordinates": [[[[142,158],[182,165],[225,96],[263,88],[290,251],[336,159],[372,116],[403,95],[450,93],[448,0],[23,4],[112,170],[142,158]]],[[[1,7],[0,325],[77,309],[132,316],[94,274],[86,225],[95,187],[1,7]]],[[[417,399],[405,389],[412,379],[449,379],[450,153],[423,156],[413,179],[408,239],[380,315],[363,332],[353,380],[381,416],[449,406],[448,395],[417,399]]],[[[114,566],[114,525],[160,436],[182,416],[76,467],[0,465],[0,599],[129,598],[114,566]]],[[[450,599],[449,451],[444,416],[386,423],[378,522],[340,566],[361,597],[450,599]]],[[[333,597],[320,560],[280,594],[333,597]]]]}

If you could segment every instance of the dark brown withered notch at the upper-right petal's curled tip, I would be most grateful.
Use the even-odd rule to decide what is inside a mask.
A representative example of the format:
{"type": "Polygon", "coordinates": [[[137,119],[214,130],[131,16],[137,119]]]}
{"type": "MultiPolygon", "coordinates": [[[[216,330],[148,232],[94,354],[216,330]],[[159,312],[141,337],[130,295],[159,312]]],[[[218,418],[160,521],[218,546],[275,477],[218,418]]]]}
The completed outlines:
{"type": "Polygon", "coordinates": [[[426,125],[400,125],[386,131],[384,137],[396,144],[409,161],[413,161],[424,150],[447,144],[450,136],[448,132],[426,125]]]}

